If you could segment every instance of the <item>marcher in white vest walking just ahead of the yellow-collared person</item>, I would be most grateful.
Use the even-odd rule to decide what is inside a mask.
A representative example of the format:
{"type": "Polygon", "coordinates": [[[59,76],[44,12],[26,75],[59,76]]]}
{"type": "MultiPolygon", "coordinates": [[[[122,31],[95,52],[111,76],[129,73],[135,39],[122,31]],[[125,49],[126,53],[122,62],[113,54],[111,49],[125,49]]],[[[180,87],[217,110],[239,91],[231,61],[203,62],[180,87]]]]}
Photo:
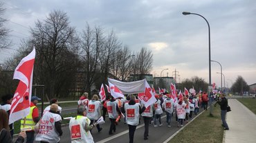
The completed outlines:
{"type": "MultiPolygon", "coordinates": [[[[100,101],[98,95],[94,94],[88,104],[87,118],[91,120],[90,124],[93,124],[93,122],[97,122],[100,116],[100,101]]],[[[100,124],[97,124],[97,129],[98,132],[102,131],[100,124]]]]}

